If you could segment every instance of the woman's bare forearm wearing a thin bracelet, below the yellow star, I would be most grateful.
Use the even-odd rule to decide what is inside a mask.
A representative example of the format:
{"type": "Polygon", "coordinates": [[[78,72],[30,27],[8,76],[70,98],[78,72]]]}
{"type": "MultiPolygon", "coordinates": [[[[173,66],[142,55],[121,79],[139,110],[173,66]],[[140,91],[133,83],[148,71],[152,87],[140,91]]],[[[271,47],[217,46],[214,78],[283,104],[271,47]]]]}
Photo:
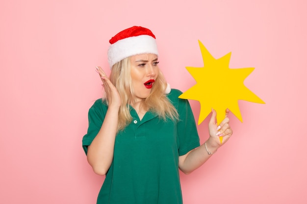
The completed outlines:
{"type": "Polygon", "coordinates": [[[211,156],[214,154],[218,146],[211,144],[210,139],[206,141],[207,150],[205,148],[205,143],[199,146],[198,148],[190,151],[185,158],[179,159],[179,168],[185,174],[190,174],[195,169],[203,165],[211,156]],[[181,162],[180,162],[181,160],[181,162]]]}

